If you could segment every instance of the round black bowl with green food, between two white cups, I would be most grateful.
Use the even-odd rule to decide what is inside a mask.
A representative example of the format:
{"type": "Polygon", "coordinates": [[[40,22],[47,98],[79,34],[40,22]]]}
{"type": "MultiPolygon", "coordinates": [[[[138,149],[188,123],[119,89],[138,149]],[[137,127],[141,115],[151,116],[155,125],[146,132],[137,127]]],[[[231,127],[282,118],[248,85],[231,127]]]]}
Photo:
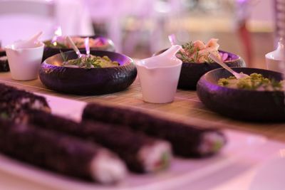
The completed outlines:
{"type": "MultiPolygon", "coordinates": [[[[81,51],[81,53],[86,53],[81,51]]],[[[69,59],[77,58],[74,51],[64,53],[69,59]]],[[[43,85],[61,93],[78,95],[100,95],[115,93],[128,88],[137,75],[133,60],[128,56],[110,51],[90,51],[94,56],[108,56],[120,63],[110,68],[66,68],[61,66],[63,58],[56,54],[43,61],[39,78],[43,85]]]]}

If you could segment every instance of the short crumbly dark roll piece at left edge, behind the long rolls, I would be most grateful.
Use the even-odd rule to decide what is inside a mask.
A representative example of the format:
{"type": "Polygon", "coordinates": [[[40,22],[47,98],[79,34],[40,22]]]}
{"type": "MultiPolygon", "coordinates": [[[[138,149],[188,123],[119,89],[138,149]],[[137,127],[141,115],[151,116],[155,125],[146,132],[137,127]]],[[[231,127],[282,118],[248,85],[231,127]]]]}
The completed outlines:
{"type": "Polygon", "coordinates": [[[25,90],[19,90],[9,85],[0,83],[0,118],[11,118],[21,112],[23,109],[36,109],[50,112],[51,109],[46,102],[46,98],[40,95],[28,93],[25,90]]]}

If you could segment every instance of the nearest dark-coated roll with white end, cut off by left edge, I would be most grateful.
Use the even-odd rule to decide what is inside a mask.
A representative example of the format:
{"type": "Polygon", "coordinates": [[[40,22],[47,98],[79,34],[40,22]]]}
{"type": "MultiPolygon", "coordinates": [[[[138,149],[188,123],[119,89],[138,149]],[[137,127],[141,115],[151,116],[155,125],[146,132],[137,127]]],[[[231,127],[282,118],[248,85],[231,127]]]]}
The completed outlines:
{"type": "Polygon", "coordinates": [[[113,183],[125,174],[123,162],[107,149],[66,134],[0,120],[0,152],[68,176],[113,183]],[[121,169],[110,171],[115,162],[121,169]]]}

